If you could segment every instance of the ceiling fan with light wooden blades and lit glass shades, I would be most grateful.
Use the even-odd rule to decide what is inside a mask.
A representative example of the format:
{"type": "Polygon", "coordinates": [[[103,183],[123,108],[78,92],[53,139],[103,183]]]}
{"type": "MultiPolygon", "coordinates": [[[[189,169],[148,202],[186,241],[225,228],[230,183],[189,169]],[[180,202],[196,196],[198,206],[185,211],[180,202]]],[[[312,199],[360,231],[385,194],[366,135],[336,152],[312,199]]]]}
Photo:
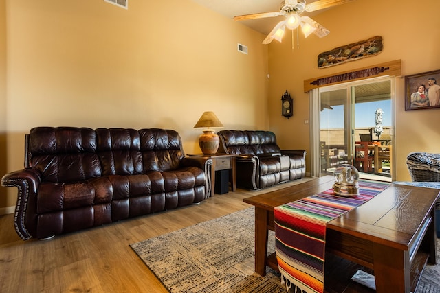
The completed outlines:
{"type": "Polygon", "coordinates": [[[311,33],[316,34],[320,38],[327,36],[330,33],[325,27],[311,19],[309,16],[300,16],[304,11],[313,12],[325,8],[331,8],[336,5],[348,3],[354,0],[318,0],[313,3],[306,4],[305,0],[284,0],[281,1],[281,8],[279,12],[263,12],[257,14],[246,14],[240,16],[234,16],[234,20],[243,21],[248,19],[263,19],[266,17],[285,16],[283,21],[280,21],[274,29],[267,35],[263,44],[269,44],[272,40],[278,40],[281,42],[283,38],[285,28],[290,30],[296,29],[301,26],[305,37],[311,33]]]}

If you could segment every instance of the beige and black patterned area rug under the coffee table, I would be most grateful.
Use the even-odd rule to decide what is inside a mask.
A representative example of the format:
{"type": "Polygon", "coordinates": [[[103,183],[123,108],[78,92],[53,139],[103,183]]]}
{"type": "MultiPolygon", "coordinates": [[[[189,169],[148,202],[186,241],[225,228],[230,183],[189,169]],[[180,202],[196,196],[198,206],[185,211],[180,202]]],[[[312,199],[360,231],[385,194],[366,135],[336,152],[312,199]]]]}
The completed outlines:
{"type": "MultiPolygon", "coordinates": [[[[274,252],[274,244],[270,233],[268,253],[274,252]]],[[[265,277],[254,273],[253,207],[131,244],[131,248],[171,293],[286,292],[278,272],[267,268],[265,277]]],[[[426,266],[416,293],[440,293],[439,239],[437,251],[437,265],[426,266]]]]}

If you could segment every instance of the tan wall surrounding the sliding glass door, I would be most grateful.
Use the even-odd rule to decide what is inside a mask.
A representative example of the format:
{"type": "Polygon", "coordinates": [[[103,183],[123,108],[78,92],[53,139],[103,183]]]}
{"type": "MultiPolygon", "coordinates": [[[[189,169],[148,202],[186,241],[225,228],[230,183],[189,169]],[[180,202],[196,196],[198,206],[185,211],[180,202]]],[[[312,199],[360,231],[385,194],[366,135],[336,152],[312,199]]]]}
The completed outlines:
{"type": "MultiPolygon", "coordinates": [[[[421,0],[416,6],[408,9],[415,7],[412,0],[353,1],[313,16],[330,30],[325,38],[312,34],[305,39],[300,33],[300,49],[292,49],[292,37],[287,33],[283,43],[269,45],[270,129],[277,133],[283,148],[310,150],[309,124],[304,120],[312,117],[309,95],[303,92],[304,80],[398,59],[402,75],[440,69],[440,1],[421,0]],[[318,54],[377,35],[384,40],[384,50],[377,56],[318,69],[318,54]],[[280,99],[286,89],[294,97],[294,117],[290,119],[281,116],[280,99]]],[[[396,79],[395,88],[395,179],[410,180],[406,169],[409,152],[440,151],[440,109],[405,111],[404,76],[396,79]]]]}

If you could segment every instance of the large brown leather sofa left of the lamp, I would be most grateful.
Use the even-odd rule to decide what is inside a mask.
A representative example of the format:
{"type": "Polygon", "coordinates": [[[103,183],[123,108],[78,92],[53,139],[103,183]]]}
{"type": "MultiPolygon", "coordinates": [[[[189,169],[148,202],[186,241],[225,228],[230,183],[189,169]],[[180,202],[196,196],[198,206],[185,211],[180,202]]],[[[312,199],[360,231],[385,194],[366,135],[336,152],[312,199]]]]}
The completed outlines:
{"type": "Polygon", "coordinates": [[[22,239],[50,238],[204,200],[210,164],[185,157],[174,130],[32,128],[17,187],[14,226],[22,239]]]}

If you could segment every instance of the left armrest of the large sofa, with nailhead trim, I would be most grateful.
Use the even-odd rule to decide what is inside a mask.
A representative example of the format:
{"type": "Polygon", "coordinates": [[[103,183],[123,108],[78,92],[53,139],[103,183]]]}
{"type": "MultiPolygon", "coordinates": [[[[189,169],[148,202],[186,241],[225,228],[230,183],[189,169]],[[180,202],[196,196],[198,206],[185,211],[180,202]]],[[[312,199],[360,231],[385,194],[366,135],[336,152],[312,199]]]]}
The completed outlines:
{"type": "Polygon", "coordinates": [[[35,169],[22,169],[5,174],[1,178],[1,186],[17,187],[17,206],[15,207],[14,226],[21,239],[26,240],[34,237],[36,227],[26,226],[26,216],[32,216],[35,211],[28,211],[28,205],[32,207],[36,198],[36,192],[41,183],[41,176],[35,169]]]}

